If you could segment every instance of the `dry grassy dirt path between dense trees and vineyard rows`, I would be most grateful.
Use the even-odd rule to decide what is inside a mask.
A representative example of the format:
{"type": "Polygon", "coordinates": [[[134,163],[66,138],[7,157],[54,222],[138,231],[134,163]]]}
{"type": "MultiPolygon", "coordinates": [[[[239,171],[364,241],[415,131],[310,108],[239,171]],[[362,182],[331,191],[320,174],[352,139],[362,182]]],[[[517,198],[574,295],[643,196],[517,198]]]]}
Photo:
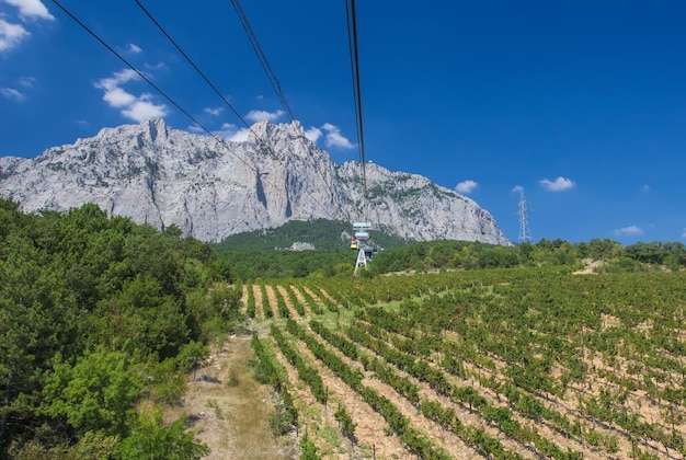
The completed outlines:
{"type": "Polygon", "coordinates": [[[168,416],[186,415],[191,429],[209,447],[205,457],[209,460],[297,459],[295,440],[274,438],[268,428],[274,394],[253,377],[250,341],[250,336],[227,340],[211,364],[197,370],[196,380],[188,382],[183,406],[168,416]],[[216,381],[201,380],[201,376],[216,381]]]}

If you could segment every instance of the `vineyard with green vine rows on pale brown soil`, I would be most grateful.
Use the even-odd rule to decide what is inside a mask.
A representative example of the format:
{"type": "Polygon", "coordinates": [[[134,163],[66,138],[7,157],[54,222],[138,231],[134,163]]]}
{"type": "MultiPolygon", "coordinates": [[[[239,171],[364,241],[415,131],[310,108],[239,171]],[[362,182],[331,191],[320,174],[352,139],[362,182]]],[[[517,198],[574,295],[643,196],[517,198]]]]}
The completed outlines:
{"type": "Polygon", "coordinates": [[[554,268],[243,286],[302,458],[686,453],[685,272],[554,268]]]}

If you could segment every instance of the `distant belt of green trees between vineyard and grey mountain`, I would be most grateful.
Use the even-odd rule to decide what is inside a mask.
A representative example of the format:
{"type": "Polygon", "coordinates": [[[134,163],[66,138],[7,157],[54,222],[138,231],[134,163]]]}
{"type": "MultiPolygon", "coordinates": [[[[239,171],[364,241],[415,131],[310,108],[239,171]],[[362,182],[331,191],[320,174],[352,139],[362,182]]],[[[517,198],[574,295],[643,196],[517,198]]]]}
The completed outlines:
{"type": "MultiPolygon", "coordinates": [[[[215,248],[230,262],[233,276],[243,281],[270,278],[351,276],[356,253],[341,239],[345,222],[319,219],[289,222],[268,231],[227,238],[215,248]],[[315,245],[313,251],[288,251],[296,241],[315,245]]],[[[380,248],[365,276],[395,272],[424,273],[436,269],[482,269],[519,266],[579,266],[585,260],[604,261],[601,272],[679,269],[686,266],[686,246],[681,242],[638,242],[628,246],[609,239],[570,243],[542,239],[536,243],[502,246],[468,241],[402,242],[371,232],[380,248]]]]}

